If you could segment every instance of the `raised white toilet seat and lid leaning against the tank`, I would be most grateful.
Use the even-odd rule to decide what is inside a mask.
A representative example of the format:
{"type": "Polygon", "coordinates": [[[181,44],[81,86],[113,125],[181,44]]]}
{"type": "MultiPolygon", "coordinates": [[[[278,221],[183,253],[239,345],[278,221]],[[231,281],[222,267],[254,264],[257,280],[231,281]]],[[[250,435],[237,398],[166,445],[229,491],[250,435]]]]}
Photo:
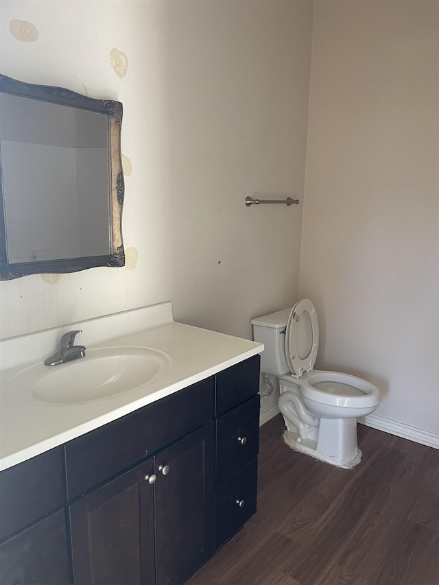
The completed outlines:
{"type": "Polygon", "coordinates": [[[289,371],[302,376],[313,369],[318,353],[317,312],[310,300],[296,302],[289,313],[285,335],[285,354],[289,371]]]}

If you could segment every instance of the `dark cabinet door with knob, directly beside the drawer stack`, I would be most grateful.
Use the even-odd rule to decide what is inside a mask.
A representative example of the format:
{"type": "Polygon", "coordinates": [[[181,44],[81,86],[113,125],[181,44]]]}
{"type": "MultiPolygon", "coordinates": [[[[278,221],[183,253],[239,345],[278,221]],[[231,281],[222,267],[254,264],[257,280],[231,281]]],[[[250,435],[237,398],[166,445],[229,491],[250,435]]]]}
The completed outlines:
{"type": "Polygon", "coordinates": [[[156,584],[180,585],[213,554],[213,422],[154,459],[156,584]]]}

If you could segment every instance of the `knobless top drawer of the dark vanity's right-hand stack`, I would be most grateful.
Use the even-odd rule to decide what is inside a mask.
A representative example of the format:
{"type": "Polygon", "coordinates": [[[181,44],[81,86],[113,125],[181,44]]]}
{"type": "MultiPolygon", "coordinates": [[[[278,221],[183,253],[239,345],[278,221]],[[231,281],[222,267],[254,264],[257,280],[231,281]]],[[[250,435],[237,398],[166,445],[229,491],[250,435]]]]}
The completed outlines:
{"type": "Polygon", "coordinates": [[[216,375],[215,416],[245,402],[259,391],[259,355],[254,355],[216,375]]]}

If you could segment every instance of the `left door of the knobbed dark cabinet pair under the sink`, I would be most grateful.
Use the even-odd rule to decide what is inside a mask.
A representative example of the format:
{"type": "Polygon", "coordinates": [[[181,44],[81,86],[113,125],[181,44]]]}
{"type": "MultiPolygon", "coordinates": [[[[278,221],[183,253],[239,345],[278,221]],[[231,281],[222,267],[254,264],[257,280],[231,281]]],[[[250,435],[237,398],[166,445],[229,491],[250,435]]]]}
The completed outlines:
{"type": "Polygon", "coordinates": [[[154,585],[152,468],[148,459],[70,505],[75,585],[154,585]]]}

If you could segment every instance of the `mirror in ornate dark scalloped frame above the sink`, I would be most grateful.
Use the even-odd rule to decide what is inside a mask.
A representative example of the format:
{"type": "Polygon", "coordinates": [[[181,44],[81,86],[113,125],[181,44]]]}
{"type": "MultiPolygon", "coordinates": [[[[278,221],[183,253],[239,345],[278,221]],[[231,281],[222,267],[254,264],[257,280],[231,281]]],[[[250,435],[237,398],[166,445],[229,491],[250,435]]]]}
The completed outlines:
{"type": "Polygon", "coordinates": [[[0,75],[0,280],[123,266],[122,104],[0,75]]]}

